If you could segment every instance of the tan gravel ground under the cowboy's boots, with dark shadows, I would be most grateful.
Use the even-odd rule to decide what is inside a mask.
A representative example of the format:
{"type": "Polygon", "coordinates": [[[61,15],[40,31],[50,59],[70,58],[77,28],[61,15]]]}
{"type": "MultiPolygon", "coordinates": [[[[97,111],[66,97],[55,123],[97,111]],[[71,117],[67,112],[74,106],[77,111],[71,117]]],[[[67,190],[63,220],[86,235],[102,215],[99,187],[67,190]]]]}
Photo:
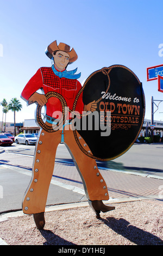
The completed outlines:
{"type": "Polygon", "coordinates": [[[8,245],[163,245],[162,205],[156,200],[116,203],[97,220],[90,207],[45,213],[38,230],[32,215],[0,222],[8,245]]]}

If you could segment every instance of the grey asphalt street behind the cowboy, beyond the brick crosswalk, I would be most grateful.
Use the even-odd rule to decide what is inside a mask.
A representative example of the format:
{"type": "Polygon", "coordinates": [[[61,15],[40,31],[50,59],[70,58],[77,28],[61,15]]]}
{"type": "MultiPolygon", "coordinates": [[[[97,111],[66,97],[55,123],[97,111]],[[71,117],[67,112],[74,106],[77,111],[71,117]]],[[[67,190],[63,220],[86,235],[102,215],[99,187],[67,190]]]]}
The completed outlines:
{"type": "MultiPolygon", "coordinates": [[[[13,143],[10,147],[0,147],[10,153],[34,155],[35,145],[13,143]]],[[[115,160],[98,162],[98,166],[115,170],[132,170],[135,172],[163,172],[163,143],[144,144],[135,143],[125,154],[115,160]]],[[[59,144],[56,158],[71,159],[64,144],[59,144]]]]}

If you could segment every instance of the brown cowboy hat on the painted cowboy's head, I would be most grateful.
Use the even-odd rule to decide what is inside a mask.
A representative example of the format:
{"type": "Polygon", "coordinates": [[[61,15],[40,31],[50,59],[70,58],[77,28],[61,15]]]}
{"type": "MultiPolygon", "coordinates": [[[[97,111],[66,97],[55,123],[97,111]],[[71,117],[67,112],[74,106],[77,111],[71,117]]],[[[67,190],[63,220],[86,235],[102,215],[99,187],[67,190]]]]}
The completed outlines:
{"type": "Polygon", "coordinates": [[[78,58],[76,51],[74,51],[74,48],[72,48],[70,51],[70,46],[64,44],[64,42],[60,42],[59,45],[57,45],[57,40],[55,40],[47,47],[45,53],[51,59],[53,57],[52,53],[54,51],[67,52],[68,55],[70,56],[70,63],[75,62],[78,58]]]}

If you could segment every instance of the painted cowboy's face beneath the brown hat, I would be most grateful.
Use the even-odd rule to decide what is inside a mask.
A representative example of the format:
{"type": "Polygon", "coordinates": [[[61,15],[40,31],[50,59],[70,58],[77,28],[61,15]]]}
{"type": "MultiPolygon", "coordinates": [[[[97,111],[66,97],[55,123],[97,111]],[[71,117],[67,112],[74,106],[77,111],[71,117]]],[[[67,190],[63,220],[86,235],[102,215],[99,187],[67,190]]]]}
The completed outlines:
{"type": "Polygon", "coordinates": [[[70,56],[68,55],[68,53],[64,51],[58,51],[55,53],[55,55],[53,53],[53,57],[55,68],[59,71],[65,70],[67,64],[70,61],[70,56]]]}

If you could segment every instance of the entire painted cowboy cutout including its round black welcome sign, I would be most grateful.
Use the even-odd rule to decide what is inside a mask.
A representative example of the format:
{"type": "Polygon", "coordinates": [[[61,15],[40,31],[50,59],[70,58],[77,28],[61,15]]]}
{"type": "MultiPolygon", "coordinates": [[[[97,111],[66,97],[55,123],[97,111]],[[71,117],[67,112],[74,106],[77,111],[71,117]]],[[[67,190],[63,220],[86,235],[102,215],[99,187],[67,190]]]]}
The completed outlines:
{"type": "Polygon", "coordinates": [[[62,42],[58,45],[55,40],[46,54],[54,64],[37,70],[21,94],[28,105],[37,104],[36,121],[41,127],[32,180],[22,205],[24,214],[33,214],[38,229],[45,225],[48,188],[59,143],[66,145],[76,162],[89,204],[99,218],[101,211],[115,207],[102,202],[109,199],[109,194],[96,160],[109,161],[124,154],[139,136],[145,115],[142,84],[128,68],[102,68],[93,72],[82,87],[80,74],[75,74],[77,69],[66,70],[78,58],[73,48],[62,42]],[[37,93],[39,89],[42,94],[37,93]],[[46,106],[46,121],[41,118],[42,106],[46,106]]]}

